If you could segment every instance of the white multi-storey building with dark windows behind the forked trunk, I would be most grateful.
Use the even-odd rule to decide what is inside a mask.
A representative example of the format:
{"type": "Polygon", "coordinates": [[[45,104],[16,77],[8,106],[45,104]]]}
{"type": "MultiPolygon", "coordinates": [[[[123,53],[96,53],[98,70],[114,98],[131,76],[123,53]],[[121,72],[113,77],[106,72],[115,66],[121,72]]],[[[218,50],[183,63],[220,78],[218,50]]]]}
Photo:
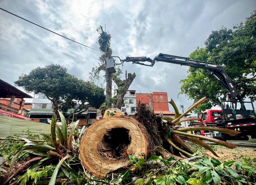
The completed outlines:
{"type": "Polygon", "coordinates": [[[128,115],[134,115],[136,112],[136,90],[128,90],[124,95],[125,106],[121,108],[121,112],[124,115],[126,112],[128,115]]]}

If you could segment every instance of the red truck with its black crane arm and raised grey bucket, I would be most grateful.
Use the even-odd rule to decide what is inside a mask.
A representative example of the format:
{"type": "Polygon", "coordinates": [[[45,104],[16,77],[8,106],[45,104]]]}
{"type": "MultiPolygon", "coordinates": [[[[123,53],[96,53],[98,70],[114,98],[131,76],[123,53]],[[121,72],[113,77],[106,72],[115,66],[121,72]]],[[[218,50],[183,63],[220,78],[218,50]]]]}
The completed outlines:
{"type": "MultiPolygon", "coordinates": [[[[230,77],[224,70],[224,65],[216,65],[215,63],[197,61],[190,59],[189,57],[181,57],[176,55],[169,55],[164,53],[159,53],[154,59],[149,57],[126,57],[126,59],[120,59],[118,56],[111,56],[106,58],[106,67],[109,73],[116,72],[116,65],[123,65],[124,62],[132,62],[132,64],[139,64],[145,66],[154,66],[156,62],[165,62],[169,64],[185,65],[189,67],[206,69],[211,72],[218,82],[224,86],[227,90],[226,100],[220,97],[222,110],[208,110],[201,113],[201,118],[206,122],[207,126],[219,126],[226,129],[240,131],[241,134],[230,138],[231,136],[217,133],[203,131],[197,134],[207,135],[210,137],[216,137],[219,139],[235,139],[235,140],[248,140],[248,136],[256,138],[256,114],[253,107],[252,100],[243,101],[239,91],[236,88],[235,83],[232,82],[230,77]],[[120,63],[116,63],[114,58],[118,58],[120,63]],[[252,109],[246,109],[245,103],[250,103],[252,109]],[[239,117],[242,117],[239,119],[239,117]]],[[[202,120],[203,120],[202,119],[202,120]]],[[[192,125],[197,125],[197,122],[191,122],[192,125]]],[[[198,125],[198,126],[202,126],[198,125]]]]}

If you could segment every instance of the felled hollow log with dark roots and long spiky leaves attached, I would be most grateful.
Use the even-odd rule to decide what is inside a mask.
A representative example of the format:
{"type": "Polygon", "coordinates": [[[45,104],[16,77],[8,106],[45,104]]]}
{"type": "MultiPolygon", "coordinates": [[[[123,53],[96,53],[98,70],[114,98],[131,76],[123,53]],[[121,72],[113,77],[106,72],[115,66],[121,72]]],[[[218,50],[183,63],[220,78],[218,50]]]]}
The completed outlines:
{"type": "MultiPolygon", "coordinates": [[[[159,147],[178,157],[192,157],[195,152],[186,140],[210,150],[217,157],[218,155],[211,147],[200,139],[212,141],[231,149],[237,147],[218,139],[181,132],[198,130],[197,127],[175,129],[175,126],[183,121],[181,118],[187,112],[206,100],[206,98],[199,100],[181,116],[175,103],[171,100],[170,103],[177,114],[175,119],[167,122],[163,122],[162,118],[155,115],[152,109],[140,103],[133,118],[111,116],[95,121],[86,130],[80,142],[79,153],[83,166],[96,177],[104,178],[110,172],[127,170],[129,155],[148,157],[155,153],[161,153],[159,147]]],[[[205,126],[204,128],[230,135],[240,133],[219,127],[205,126]]]]}

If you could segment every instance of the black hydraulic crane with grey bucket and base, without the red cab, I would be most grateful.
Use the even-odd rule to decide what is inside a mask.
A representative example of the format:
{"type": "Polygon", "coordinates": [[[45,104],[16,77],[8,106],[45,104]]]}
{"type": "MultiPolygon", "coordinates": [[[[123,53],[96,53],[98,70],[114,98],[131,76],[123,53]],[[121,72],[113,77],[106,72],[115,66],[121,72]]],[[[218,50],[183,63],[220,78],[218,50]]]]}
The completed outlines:
{"type": "MultiPolygon", "coordinates": [[[[245,126],[253,126],[252,130],[253,132],[255,132],[256,118],[255,118],[253,103],[252,101],[245,102],[242,100],[242,97],[240,96],[239,91],[237,90],[235,84],[232,82],[232,80],[224,70],[225,68],[224,65],[216,65],[210,62],[192,60],[188,57],[168,55],[163,53],[159,53],[159,55],[157,55],[154,59],[151,59],[149,57],[126,57],[126,59],[122,60],[119,58],[121,63],[118,63],[118,64],[115,62],[113,58],[119,58],[119,57],[112,56],[106,59],[107,69],[109,70],[110,73],[113,73],[116,71],[115,65],[123,65],[124,62],[132,62],[133,64],[146,65],[146,66],[154,66],[156,62],[165,62],[169,64],[179,64],[179,65],[185,65],[185,66],[190,66],[195,68],[207,69],[208,71],[211,72],[211,75],[213,75],[218,80],[218,82],[221,83],[227,89],[227,97],[229,99],[229,100],[222,100],[222,98],[220,98],[221,107],[223,110],[223,120],[216,121],[216,123],[218,123],[218,126],[222,125],[227,128],[232,127],[233,129],[233,127],[241,128],[241,124],[243,124],[242,125],[243,129],[245,126]],[[237,106],[238,103],[241,104],[241,107],[239,109],[237,106]],[[251,103],[252,110],[246,110],[244,103],[251,103]],[[243,115],[243,119],[237,120],[236,115],[238,114],[243,115]],[[231,115],[231,116],[228,116],[228,115],[231,115]]],[[[254,137],[256,137],[256,134],[248,134],[248,135],[254,135],[254,137]]]]}

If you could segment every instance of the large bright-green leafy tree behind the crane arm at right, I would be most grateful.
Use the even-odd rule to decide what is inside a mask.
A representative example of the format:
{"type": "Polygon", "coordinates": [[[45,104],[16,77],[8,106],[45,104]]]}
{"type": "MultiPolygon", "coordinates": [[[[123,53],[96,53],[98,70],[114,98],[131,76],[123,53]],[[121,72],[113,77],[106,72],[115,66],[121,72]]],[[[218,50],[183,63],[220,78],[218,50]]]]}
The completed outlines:
{"type": "MultiPolygon", "coordinates": [[[[195,60],[212,62],[217,65],[225,65],[225,71],[236,84],[240,95],[256,98],[256,11],[240,23],[227,29],[222,27],[212,31],[205,41],[205,47],[199,48],[190,54],[195,60]]],[[[188,98],[197,101],[207,96],[209,102],[201,104],[194,111],[200,113],[220,105],[219,97],[225,96],[226,89],[219,84],[210,72],[204,69],[189,68],[186,79],[180,81],[181,92],[188,98]]]]}

